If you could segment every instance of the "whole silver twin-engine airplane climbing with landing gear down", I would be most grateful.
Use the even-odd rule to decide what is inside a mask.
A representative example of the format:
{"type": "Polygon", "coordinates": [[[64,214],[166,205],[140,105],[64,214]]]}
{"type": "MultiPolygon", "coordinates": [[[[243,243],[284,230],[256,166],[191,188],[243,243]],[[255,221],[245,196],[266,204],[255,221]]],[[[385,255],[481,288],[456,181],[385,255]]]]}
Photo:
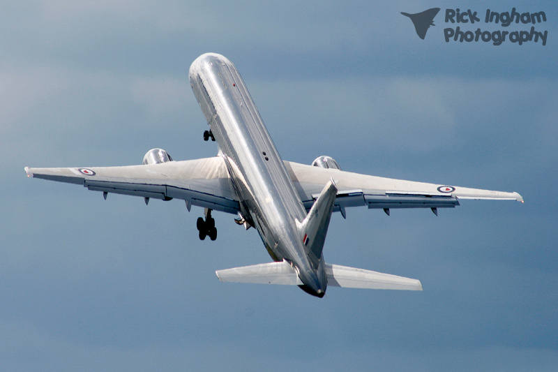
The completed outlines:
{"type": "Polygon", "coordinates": [[[174,161],[163,149],[149,150],[142,165],[25,168],[27,177],[80,184],[91,191],[151,199],[179,199],[203,207],[199,239],[217,237],[211,211],[223,211],[246,230],[255,228],[273,262],[216,271],[222,282],[298,285],[324,297],[328,285],[346,288],[422,290],[421,282],[376,271],[326,264],[323,248],[333,211],[453,208],[460,199],[517,200],[518,193],[427,184],[341,170],[329,156],[312,165],[283,161],[241,75],[220,54],[193,61],[190,85],[216,141],[211,158],[174,161]]]}

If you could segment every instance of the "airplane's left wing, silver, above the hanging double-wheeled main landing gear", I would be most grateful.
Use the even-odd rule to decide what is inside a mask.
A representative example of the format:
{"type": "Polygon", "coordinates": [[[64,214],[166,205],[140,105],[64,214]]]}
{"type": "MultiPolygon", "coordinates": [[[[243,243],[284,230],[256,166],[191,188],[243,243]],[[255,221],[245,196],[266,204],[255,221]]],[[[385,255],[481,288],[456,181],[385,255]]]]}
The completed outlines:
{"type": "MultiPolygon", "coordinates": [[[[80,184],[91,191],[143,198],[186,200],[191,205],[236,214],[239,200],[220,156],[151,165],[91,168],[25,168],[27,177],[80,184]]],[[[149,199],[146,199],[146,202],[149,199]]]]}

